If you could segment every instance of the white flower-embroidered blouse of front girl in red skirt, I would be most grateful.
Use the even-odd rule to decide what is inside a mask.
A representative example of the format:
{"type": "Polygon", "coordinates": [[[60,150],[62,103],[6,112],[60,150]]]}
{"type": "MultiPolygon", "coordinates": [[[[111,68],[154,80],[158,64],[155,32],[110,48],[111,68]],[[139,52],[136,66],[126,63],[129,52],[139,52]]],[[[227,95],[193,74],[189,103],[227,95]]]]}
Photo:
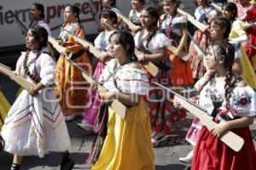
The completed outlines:
{"type": "MultiPolygon", "coordinates": [[[[214,79],[214,78],[212,78],[214,79]]],[[[211,86],[211,82],[201,90],[199,105],[207,110],[209,115],[212,114],[213,104],[211,93],[214,93],[216,100],[223,100],[222,105],[218,109],[216,119],[225,121],[224,116],[229,116],[229,119],[234,119],[237,116],[255,116],[256,115],[256,93],[249,86],[235,87],[232,90],[230,97],[230,109],[226,110],[226,100],[224,99],[224,83],[216,83],[211,86]]]]}

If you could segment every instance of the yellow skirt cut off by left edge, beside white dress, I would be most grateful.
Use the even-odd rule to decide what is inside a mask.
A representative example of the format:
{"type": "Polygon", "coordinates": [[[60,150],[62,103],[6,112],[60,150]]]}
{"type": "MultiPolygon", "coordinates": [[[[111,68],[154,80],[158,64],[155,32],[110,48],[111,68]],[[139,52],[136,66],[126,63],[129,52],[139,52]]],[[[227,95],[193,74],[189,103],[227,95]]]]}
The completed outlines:
{"type": "Polygon", "coordinates": [[[9,101],[5,98],[3,93],[0,91],[0,131],[3,127],[3,122],[10,109],[9,101]]]}

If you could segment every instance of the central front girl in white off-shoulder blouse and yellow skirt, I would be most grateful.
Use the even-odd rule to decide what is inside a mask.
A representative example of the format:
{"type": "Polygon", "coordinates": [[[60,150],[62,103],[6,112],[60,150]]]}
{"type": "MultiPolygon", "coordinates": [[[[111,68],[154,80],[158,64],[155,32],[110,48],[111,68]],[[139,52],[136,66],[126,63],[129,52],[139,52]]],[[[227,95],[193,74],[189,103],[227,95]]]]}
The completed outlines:
{"type": "Polygon", "coordinates": [[[108,124],[102,125],[88,160],[93,163],[93,170],[154,169],[148,107],[141,99],[147,94],[149,82],[137,63],[134,48],[130,33],[116,31],[110,36],[108,55],[114,59],[108,62],[99,79],[108,88],[102,97],[118,99],[126,105],[127,112],[121,118],[110,107],[107,112],[101,111],[108,124]]]}

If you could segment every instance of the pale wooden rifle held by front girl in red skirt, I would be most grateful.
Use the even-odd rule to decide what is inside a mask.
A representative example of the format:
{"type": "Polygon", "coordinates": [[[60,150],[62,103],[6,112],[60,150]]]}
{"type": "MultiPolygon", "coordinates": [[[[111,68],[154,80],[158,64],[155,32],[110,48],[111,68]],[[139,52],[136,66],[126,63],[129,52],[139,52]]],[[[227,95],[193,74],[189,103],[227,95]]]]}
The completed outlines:
{"type": "MultiPolygon", "coordinates": [[[[198,117],[201,123],[204,126],[206,126],[209,130],[212,130],[212,128],[218,125],[217,122],[212,121],[212,116],[208,116],[207,111],[201,108],[199,105],[195,105],[194,103],[189,101],[189,99],[183,98],[183,96],[175,93],[169,88],[166,88],[165,86],[161,85],[158,82],[153,82],[153,83],[159,86],[160,88],[164,88],[167,91],[174,94],[174,99],[176,99],[180,103],[180,105],[182,105],[186,110],[188,110],[194,116],[198,117]]],[[[223,141],[224,144],[227,144],[232,150],[235,150],[235,151],[241,150],[244,144],[244,139],[242,139],[236,133],[231,132],[230,130],[227,130],[219,139],[223,141]]]]}

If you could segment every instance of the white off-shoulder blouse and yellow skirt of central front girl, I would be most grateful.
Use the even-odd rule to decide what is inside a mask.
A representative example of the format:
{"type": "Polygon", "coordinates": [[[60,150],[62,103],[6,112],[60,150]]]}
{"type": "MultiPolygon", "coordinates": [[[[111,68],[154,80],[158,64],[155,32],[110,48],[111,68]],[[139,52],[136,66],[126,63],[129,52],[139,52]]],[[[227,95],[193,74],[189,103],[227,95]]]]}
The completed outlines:
{"type": "MultiPolygon", "coordinates": [[[[111,65],[111,61],[106,65],[101,77],[108,77],[111,74],[109,71],[113,71],[113,68],[109,65],[111,65]],[[105,74],[106,72],[107,74],[105,74]]],[[[138,69],[120,69],[114,79],[116,79],[118,87],[125,93],[139,94],[142,91],[140,89],[149,88],[148,77],[138,69]]],[[[113,79],[110,78],[103,86],[111,90],[114,88],[112,82],[113,79]]],[[[144,93],[146,93],[146,89],[143,89],[144,93]]],[[[92,170],[154,170],[150,117],[148,106],[143,100],[140,105],[127,109],[124,119],[108,108],[107,126],[108,134],[102,145],[100,156],[91,167],[92,170]]]]}

